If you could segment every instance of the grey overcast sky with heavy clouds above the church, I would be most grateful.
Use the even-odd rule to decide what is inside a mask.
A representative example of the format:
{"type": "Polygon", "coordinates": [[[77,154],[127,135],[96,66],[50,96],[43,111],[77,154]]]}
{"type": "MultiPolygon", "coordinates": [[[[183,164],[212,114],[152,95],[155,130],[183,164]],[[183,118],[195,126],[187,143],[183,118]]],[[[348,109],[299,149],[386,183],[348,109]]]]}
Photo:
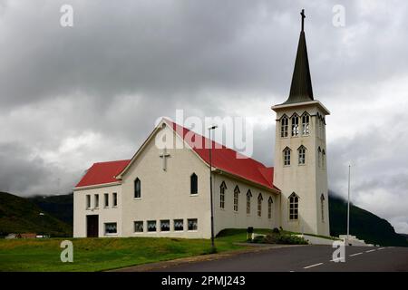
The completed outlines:
{"type": "Polygon", "coordinates": [[[329,189],[408,233],[406,1],[1,1],[0,190],[69,192],[130,159],[160,116],[253,117],[273,165],[300,16],[326,118],[329,189]],[[60,8],[73,5],[73,27],[60,8]],[[334,5],[345,26],[333,24],[334,5]]]}

